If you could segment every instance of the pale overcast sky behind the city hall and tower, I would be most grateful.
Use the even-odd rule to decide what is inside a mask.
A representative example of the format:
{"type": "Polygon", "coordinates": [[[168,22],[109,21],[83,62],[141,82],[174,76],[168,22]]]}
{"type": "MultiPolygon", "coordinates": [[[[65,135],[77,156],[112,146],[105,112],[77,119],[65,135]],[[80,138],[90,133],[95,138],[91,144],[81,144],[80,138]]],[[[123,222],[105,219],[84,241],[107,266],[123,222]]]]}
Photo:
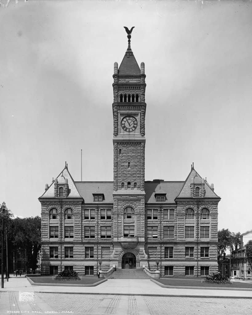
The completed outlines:
{"type": "Polygon", "coordinates": [[[0,0],[0,202],[40,215],[45,184],[113,180],[113,65],[146,72],[146,180],[191,164],[221,196],[218,228],[251,229],[251,1],[0,0]],[[8,4],[8,5],[7,5],[8,4]]]}

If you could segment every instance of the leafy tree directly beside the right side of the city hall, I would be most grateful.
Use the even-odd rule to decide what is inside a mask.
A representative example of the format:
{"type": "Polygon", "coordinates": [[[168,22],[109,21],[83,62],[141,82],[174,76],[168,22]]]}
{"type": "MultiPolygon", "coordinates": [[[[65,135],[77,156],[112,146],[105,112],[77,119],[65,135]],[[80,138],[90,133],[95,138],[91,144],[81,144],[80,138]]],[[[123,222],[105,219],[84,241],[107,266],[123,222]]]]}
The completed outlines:
{"type": "Polygon", "coordinates": [[[218,231],[218,262],[221,259],[221,255],[226,251],[227,248],[231,250],[238,249],[240,244],[241,233],[230,232],[229,229],[222,229],[218,231]]]}

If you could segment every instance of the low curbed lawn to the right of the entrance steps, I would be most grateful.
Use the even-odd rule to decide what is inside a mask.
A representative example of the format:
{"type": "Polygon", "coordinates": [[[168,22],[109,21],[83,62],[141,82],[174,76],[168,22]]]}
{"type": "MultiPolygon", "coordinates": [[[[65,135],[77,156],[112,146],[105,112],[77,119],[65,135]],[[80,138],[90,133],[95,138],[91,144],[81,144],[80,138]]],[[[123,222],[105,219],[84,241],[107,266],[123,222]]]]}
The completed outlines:
{"type": "MultiPolygon", "coordinates": [[[[157,280],[157,279],[156,279],[157,280]]],[[[246,282],[233,282],[233,284],[210,284],[202,283],[203,278],[160,278],[157,281],[171,286],[183,286],[183,287],[215,287],[215,288],[251,288],[252,283],[246,282]]]]}

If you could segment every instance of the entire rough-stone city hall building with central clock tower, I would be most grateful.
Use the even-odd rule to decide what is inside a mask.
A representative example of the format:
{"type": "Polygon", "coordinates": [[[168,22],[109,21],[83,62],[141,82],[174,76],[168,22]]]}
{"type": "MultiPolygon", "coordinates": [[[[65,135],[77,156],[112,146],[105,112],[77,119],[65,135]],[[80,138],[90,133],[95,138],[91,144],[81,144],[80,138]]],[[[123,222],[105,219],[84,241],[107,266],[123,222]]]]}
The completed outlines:
{"type": "MultiPolygon", "coordinates": [[[[132,31],[132,30],[131,30],[132,31]]],[[[130,48],[114,63],[114,180],[74,181],[67,164],[46,185],[41,273],[73,269],[93,275],[118,269],[158,269],[161,276],[218,271],[220,197],[191,166],[184,181],[145,181],[145,65],[130,48]]]]}

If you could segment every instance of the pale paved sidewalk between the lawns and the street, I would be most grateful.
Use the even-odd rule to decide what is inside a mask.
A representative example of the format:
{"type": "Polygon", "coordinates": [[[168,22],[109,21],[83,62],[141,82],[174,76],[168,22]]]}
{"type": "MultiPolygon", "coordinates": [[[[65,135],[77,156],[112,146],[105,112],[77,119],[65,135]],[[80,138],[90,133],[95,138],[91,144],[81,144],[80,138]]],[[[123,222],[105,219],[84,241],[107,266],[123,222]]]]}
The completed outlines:
{"type": "Polygon", "coordinates": [[[162,288],[149,279],[109,279],[96,287],[66,287],[36,286],[31,285],[25,277],[12,277],[9,282],[4,279],[4,289],[0,289],[0,293],[2,291],[252,298],[252,291],[162,288]]]}

